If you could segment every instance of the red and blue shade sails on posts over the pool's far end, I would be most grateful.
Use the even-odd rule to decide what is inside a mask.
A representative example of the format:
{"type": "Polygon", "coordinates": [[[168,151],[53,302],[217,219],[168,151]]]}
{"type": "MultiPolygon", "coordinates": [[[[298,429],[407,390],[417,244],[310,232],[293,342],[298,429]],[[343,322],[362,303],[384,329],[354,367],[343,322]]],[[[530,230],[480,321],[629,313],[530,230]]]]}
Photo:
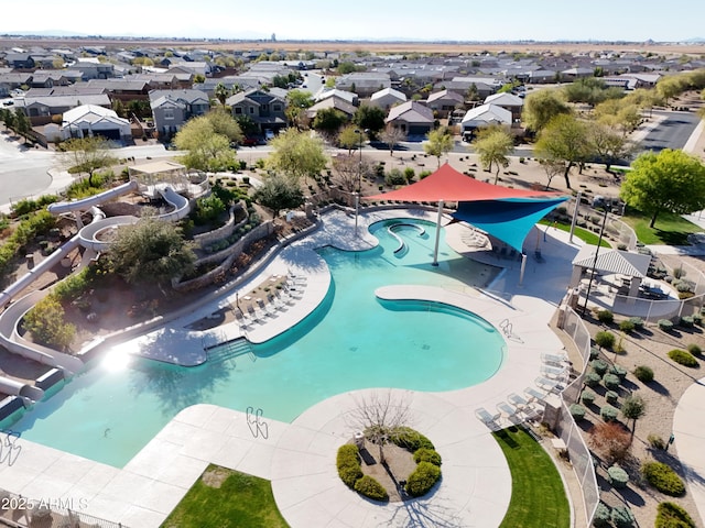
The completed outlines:
{"type": "Polygon", "coordinates": [[[415,184],[362,198],[438,202],[434,265],[437,264],[438,235],[446,202],[458,204],[457,210],[451,215],[455,221],[470,223],[523,253],[522,245],[531,228],[568,199],[560,193],[513,189],[479,182],[459,173],[447,163],[415,184]]]}

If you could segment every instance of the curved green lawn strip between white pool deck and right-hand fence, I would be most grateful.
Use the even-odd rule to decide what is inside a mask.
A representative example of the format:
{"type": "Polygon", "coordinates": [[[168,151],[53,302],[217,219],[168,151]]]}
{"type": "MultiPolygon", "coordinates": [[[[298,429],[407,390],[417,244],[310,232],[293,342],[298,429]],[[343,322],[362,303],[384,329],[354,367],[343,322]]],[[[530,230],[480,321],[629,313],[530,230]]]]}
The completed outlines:
{"type": "Polygon", "coordinates": [[[551,457],[523,429],[494,436],[511,471],[511,501],[500,528],[567,528],[568,499],[551,457]]]}

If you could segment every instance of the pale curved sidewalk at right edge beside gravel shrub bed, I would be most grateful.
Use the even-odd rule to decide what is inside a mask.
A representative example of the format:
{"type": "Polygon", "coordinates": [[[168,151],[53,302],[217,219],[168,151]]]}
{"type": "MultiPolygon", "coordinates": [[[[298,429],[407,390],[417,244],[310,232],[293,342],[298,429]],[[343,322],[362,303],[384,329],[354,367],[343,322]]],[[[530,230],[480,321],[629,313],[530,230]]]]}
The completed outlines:
{"type": "Polygon", "coordinates": [[[693,502],[705,519],[705,377],[681,396],[673,415],[673,436],[693,502]]]}

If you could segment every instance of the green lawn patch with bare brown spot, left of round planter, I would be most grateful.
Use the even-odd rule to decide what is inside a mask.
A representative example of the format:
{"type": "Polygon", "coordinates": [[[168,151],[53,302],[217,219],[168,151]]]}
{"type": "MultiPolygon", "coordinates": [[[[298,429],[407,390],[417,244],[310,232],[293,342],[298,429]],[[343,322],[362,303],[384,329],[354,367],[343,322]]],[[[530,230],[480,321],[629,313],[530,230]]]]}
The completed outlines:
{"type": "Polygon", "coordinates": [[[162,528],[288,528],[269,481],[209,465],[162,528]]]}

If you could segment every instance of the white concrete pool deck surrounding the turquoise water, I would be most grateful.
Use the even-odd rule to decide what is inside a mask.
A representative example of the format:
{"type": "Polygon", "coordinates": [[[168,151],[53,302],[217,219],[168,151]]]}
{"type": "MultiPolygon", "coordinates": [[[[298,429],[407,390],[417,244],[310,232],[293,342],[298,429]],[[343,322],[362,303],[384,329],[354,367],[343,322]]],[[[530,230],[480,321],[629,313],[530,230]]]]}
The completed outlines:
{"type": "MultiPolygon", "coordinates": [[[[435,221],[435,213],[417,210],[378,211],[360,217],[359,237],[355,237],[351,216],[340,211],[325,215],[321,229],[283,250],[256,277],[239,286],[238,294],[252,290],[272,275],[306,277],[301,299],[264,323],[246,329],[229,323],[206,332],[184,328],[219,308],[232,306],[232,290],[161,330],[124,342],[120,349],[197,363],[203,350],[194,353],[196,341],[221,342],[242,334],[252,341],[264,341],[276,336],[310,314],[328,289],[327,267],[313,249],[372,248],[376,239],[367,227],[401,216],[435,221]]],[[[466,229],[462,224],[446,229],[446,242],[463,254],[476,251],[464,243],[466,229]]],[[[160,526],[208,463],[215,463],[271,480],[276,504],[292,528],[496,527],[509,505],[511,476],[499,446],[475,417],[475,409],[485,407],[495,413],[496,405],[506,400],[509,393],[534,386],[541,372],[541,353],[562,349],[547,322],[565,294],[570,263],[578,251],[577,245],[567,243],[567,233],[555,229],[542,228],[527,240],[540,244],[543,260],[528,260],[522,285],[518,261],[499,261],[485,252],[478,260],[507,266],[486,292],[453,279],[448,287],[405,285],[377,292],[387,298],[421,298],[459,306],[495,327],[505,319],[512,324],[511,336],[506,336],[506,360],[489,381],[446,393],[392,392],[395,399],[409,405],[411,426],[431,438],[443,457],[442,483],[427,497],[379,505],[360,498],[337,476],[336,451],[355,432],[348,414],[360,398],[376,389],[328,398],[306,409],[292,424],[195,405],[182,410],[123,469],[21,439],[15,443],[12,463],[6,460],[0,465],[0,488],[35,499],[85,499],[86,514],[127,527],[150,528],[160,526]]]]}

